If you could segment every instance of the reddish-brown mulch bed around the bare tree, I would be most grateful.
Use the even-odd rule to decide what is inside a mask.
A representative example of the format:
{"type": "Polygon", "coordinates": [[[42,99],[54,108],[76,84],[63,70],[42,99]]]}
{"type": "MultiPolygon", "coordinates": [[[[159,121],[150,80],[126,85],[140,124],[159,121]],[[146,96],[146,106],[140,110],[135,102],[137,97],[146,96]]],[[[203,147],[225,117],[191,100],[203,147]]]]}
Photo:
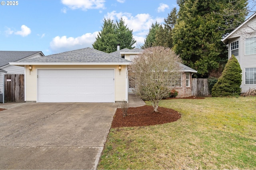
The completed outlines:
{"type": "Polygon", "coordinates": [[[123,117],[122,109],[118,108],[112,121],[112,128],[150,126],[169,123],[180,119],[178,111],[165,107],[158,107],[154,112],[153,106],[129,107],[128,115],[123,117]]]}

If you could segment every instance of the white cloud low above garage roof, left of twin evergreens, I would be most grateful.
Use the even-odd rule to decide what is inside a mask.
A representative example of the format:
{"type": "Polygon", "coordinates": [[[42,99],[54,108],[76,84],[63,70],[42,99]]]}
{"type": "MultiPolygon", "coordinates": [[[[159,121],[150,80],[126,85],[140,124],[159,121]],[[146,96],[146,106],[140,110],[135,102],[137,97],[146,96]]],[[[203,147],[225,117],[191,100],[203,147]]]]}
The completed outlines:
{"type": "Polygon", "coordinates": [[[92,43],[96,40],[98,31],[94,33],[86,33],[80,37],[56,36],[50,42],[52,53],[61,53],[75,49],[92,47],[92,43]]]}

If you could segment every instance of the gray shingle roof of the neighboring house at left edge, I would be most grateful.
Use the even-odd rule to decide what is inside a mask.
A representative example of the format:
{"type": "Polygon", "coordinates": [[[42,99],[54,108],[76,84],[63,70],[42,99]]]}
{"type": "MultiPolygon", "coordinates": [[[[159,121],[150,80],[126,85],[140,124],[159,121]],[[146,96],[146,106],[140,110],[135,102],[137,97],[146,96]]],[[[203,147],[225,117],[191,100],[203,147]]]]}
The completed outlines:
{"type": "Polygon", "coordinates": [[[0,51],[0,67],[40,52],[41,51],[0,51]]]}

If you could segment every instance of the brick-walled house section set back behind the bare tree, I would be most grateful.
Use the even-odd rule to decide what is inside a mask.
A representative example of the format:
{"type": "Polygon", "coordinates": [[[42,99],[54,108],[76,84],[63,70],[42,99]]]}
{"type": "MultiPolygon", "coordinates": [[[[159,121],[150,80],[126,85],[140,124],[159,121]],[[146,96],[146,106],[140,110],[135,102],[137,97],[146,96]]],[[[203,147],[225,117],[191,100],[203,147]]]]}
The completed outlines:
{"type": "MultiPolygon", "coordinates": [[[[116,57],[122,57],[123,59],[127,59],[132,61],[136,55],[143,52],[143,49],[122,49],[119,51],[115,51],[110,53],[116,57]]],[[[180,63],[181,74],[176,77],[175,80],[171,80],[171,88],[178,91],[177,97],[188,97],[192,96],[192,74],[197,71],[180,63]]],[[[128,82],[129,83],[129,82],[128,82]]],[[[129,86],[129,84],[128,84],[129,86]]],[[[128,92],[133,93],[133,87],[128,87],[128,92]]]]}

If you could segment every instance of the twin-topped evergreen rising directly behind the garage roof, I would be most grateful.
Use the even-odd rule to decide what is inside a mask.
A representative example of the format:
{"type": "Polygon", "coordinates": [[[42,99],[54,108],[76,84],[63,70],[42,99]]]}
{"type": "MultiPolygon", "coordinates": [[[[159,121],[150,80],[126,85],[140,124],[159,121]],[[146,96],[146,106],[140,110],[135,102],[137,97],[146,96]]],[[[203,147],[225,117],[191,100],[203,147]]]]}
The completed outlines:
{"type": "Polygon", "coordinates": [[[102,29],[92,47],[99,51],[112,53],[117,50],[117,44],[120,44],[121,49],[133,49],[132,45],[134,43],[136,41],[133,38],[132,30],[125,25],[122,18],[119,22],[116,21],[116,23],[113,20],[104,18],[102,29]]]}

